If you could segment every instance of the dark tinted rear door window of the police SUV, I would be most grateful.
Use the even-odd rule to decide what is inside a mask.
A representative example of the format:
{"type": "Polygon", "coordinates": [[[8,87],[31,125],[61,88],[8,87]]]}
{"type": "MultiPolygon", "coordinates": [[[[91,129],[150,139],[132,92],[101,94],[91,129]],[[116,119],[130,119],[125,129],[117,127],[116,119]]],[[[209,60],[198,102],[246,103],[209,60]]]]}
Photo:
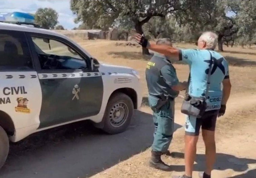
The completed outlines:
{"type": "Polygon", "coordinates": [[[23,32],[0,30],[0,70],[31,70],[32,58],[23,32]]]}

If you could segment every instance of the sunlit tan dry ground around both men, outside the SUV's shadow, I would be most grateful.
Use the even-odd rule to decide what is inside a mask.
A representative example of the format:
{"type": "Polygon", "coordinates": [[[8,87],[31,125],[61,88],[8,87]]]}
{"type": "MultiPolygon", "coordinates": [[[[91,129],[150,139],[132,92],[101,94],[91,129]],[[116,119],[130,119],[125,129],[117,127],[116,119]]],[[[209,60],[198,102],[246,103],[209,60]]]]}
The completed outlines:
{"type": "MultiPolygon", "coordinates": [[[[141,55],[141,48],[138,45],[125,45],[127,44],[126,41],[74,40],[101,63],[128,66],[138,70],[143,83],[144,96],[143,106],[140,110],[151,114],[151,110],[147,106],[148,93],[145,80],[147,59],[141,55]]],[[[174,46],[178,48],[196,48],[194,44],[175,43],[174,46]]],[[[216,142],[218,153],[216,167],[212,172],[213,178],[256,178],[255,49],[255,47],[251,49],[224,47],[225,52],[222,52],[229,62],[232,91],[227,103],[226,114],[217,121],[216,142]]],[[[179,80],[187,80],[188,66],[181,62],[174,62],[174,67],[179,80]]],[[[183,94],[180,93],[180,95],[183,94]]],[[[184,116],[179,111],[181,103],[182,98],[178,97],[175,105],[175,122],[183,126],[184,116]]],[[[174,133],[170,151],[183,152],[183,137],[183,128],[177,129],[174,133]]],[[[197,171],[202,171],[204,168],[204,151],[204,145],[200,137],[194,178],[197,178],[197,171]]],[[[148,166],[149,158],[150,148],[142,150],[141,153],[92,176],[92,178],[168,178],[174,173],[182,174],[184,171],[183,159],[164,157],[166,163],[173,165],[173,171],[162,172],[148,166]]]]}

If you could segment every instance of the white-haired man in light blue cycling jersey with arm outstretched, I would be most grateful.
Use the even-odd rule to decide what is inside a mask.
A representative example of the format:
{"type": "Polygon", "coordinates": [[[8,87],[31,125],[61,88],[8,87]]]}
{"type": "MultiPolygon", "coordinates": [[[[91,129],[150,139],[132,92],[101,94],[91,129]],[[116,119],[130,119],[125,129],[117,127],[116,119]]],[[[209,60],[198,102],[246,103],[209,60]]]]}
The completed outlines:
{"type": "Polygon", "coordinates": [[[134,36],[143,47],[159,52],[173,59],[184,61],[190,68],[188,94],[195,97],[206,93],[207,77],[211,66],[207,109],[201,118],[186,116],[185,124],[185,174],[173,178],[192,178],[193,165],[196,157],[196,145],[199,131],[202,126],[202,136],[206,147],[206,170],[199,173],[200,178],[211,178],[211,171],[215,163],[215,124],[216,118],[224,115],[226,103],[229,99],[231,83],[229,79],[228,62],[214,51],[217,44],[217,35],[213,32],[204,32],[198,39],[199,49],[180,50],[174,47],[150,44],[140,35],[134,36]],[[211,60],[211,55],[212,60],[211,60]],[[212,63],[211,63],[212,61],[212,63]],[[223,89],[221,87],[223,84],[223,89]]]}

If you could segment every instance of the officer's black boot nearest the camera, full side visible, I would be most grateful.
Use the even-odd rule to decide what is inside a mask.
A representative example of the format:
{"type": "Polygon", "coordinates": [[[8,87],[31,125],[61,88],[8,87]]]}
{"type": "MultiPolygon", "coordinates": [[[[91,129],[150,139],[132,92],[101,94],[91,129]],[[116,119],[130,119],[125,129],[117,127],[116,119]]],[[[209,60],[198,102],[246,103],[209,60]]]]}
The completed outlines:
{"type": "Polygon", "coordinates": [[[150,166],[163,171],[171,171],[171,167],[161,160],[161,155],[162,152],[151,151],[151,160],[149,162],[150,166]]]}

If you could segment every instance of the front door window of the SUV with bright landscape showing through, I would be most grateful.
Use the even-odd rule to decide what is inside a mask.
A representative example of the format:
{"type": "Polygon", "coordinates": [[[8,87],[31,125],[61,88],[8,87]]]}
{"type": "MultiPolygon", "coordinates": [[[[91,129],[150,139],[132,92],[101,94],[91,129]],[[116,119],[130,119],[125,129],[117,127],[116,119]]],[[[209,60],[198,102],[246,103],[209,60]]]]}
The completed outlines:
{"type": "Polygon", "coordinates": [[[49,38],[32,37],[41,69],[86,69],[85,60],[68,45],[49,38]]]}

